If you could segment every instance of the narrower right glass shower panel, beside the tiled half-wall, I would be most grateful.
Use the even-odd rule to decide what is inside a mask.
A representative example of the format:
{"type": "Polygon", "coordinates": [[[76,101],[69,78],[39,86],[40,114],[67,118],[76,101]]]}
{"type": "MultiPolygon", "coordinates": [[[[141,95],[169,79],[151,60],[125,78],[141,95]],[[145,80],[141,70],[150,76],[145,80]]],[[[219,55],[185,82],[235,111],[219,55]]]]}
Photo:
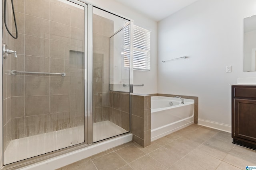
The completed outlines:
{"type": "Polygon", "coordinates": [[[130,131],[130,21],[93,8],[92,142],[130,131]]]}

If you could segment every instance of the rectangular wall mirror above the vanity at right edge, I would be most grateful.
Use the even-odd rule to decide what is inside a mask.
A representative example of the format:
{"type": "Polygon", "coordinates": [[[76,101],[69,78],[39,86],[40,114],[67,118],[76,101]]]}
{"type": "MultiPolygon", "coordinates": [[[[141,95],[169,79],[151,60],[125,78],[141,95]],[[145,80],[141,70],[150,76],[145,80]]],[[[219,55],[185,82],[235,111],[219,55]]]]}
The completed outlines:
{"type": "Polygon", "coordinates": [[[256,71],[256,15],[244,18],[244,72],[256,71]]]}

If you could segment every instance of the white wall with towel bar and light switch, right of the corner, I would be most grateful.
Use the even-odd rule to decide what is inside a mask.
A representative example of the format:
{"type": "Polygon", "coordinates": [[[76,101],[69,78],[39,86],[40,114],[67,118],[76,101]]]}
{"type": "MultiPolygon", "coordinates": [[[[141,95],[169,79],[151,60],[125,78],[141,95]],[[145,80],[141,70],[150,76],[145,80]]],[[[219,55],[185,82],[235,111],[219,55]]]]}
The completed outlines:
{"type": "Polygon", "coordinates": [[[160,21],[158,93],[198,96],[199,121],[230,131],[229,84],[256,76],[243,72],[243,18],[255,14],[255,0],[198,0],[160,21]]]}

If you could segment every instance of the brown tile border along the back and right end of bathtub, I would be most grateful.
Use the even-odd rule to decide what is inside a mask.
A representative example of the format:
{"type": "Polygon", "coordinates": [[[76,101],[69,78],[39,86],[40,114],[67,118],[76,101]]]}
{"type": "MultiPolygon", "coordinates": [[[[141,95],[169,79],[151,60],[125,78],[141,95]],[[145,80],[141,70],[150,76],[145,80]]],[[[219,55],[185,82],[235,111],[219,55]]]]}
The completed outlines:
{"type": "Polygon", "coordinates": [[[166,97],[172,97],[180,96],[184,99],[192,99],[194,100],[194,123],[197,124],[198,122],[198,97],[196,96],[184,96],[184,95],[175,95],[175,94],[150,94],[151,96],[166,96],[166,97]]]}

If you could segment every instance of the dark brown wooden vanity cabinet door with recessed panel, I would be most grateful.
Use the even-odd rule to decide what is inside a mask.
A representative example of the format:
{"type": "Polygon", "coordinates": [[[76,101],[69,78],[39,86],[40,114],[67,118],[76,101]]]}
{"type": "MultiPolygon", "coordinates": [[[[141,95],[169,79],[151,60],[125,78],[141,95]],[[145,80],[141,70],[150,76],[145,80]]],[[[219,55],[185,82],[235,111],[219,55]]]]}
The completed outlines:
{"type": "Polygon", "coordinates": [[[256,142],[256,100],[234,98],[233,102],[232,136],[256,142]]]}

